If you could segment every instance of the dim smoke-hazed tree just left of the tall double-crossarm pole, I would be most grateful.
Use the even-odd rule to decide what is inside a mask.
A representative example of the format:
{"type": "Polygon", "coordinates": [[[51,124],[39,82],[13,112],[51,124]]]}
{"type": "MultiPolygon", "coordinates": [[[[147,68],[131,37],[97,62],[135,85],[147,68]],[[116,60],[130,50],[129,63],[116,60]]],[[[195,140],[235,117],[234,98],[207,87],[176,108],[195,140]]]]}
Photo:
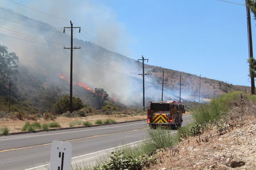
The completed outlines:
{"type": "Polygon", "coordinates": [[[40,111],[50,111],[52,105],[57,103],[61,97],[61,89],[58,86],[51,85],[39,95],[40,98],[40,111]]]}

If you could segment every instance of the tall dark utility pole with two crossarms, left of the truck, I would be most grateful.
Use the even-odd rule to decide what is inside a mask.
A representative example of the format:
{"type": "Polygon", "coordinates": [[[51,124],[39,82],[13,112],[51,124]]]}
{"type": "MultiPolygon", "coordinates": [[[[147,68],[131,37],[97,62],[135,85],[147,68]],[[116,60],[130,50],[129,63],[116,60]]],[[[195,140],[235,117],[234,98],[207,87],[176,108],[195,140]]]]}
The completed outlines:
{"type": "Polygon", "coordinates": [[[70,113],[72,113],[72,83],[73,83],[73,51],[76,50],[76,49],[80,49],[81,46],[79,47],[76,47],[76,46],[73,46],[73,29],[79,29],[79,32],[81,31],[81,27],[73,27],[73,23],[72,21],[70,20],[70,25],[71,27],[64,27],[63,29],[63,33],[65,33],[65,29],[70,29],[70,32],[71,32],[71,36],[70,36],[70,47],[65,47],[64,46],[64,49],[68,49],[70,50],[70,113]]]}

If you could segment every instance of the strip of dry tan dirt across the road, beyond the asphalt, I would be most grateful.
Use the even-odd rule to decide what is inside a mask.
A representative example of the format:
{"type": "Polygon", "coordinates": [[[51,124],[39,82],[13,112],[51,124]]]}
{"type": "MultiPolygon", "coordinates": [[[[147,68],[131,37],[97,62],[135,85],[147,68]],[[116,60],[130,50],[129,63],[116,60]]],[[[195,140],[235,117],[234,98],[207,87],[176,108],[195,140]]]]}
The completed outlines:
{"type": "MultiPolygon", "coordinates": [[[[26,122],[38,122],[40,124],[50,123],[50,122],[58,122],[61,127],[70,127],[70,123],[75,120],[81,120],[81,121],[89,121],[92,122],[92,124],[95,124],[95,120],[106,120],[108,118],[111,118],[113,120],[116,120],[116,122],[127,122],[131,120],[143,120],[146,119],[146,115],[92,115],[88,117],[76,117],[76,118],[67,118],[67,117],[57,117],[55,120],[44,120],[44,118],[40,118],[37,121],[33,120],[12,120],[10,118],[1,118],[0,119],[0,127],[8,127],[10,129],[10,132],[21,132],[22,126],[26,122]]],[[[74,127],[79,127],[82,125],[76,125],[74,127]]]]}

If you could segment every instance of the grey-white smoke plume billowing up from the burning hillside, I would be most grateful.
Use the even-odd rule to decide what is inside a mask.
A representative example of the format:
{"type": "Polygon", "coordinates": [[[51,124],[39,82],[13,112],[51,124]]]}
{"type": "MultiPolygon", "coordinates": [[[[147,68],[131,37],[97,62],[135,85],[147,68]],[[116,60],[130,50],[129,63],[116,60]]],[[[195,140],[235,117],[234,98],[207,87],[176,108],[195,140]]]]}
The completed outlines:
{"type": "MultiPolygon", "coordinates": [[[[91,89],[103,88],[109,96],[126,105],[142,103],[142,80],[138,75],[141,64],[111,52],[122,51],[129,55],[131,39],[124,25],[116,20],[113,10],[95,1],[82,0],[30,0],[26,5],[61,19],[10,2],[4,3],[13,11],[0,9],[0,17],[8,18],[0,18],[0,43],[17,53],[22,66],[37,75],[44,75],[49,82],[58,81],[60,74],[68,77],[70,52],[63,46],[70,46],[70,31],[67,29],[64,34],[62,28],[69,27],[68,20],[72,20],[74,26],[81,26],[82,30],[81,34],[74,31],[74,46],[81,46],[81,50],[74,51],[74,81],[83,82],[91,89]]],[[[150,76],[146,76],[145,81],[147,101],[159,101],[161,85],[150,76]]],[[[189,93],[182,92],[182,96],[190,96],[189,93]]],[[[177,100],[179,92],[166,88],[164,99],[177,100]]]]}

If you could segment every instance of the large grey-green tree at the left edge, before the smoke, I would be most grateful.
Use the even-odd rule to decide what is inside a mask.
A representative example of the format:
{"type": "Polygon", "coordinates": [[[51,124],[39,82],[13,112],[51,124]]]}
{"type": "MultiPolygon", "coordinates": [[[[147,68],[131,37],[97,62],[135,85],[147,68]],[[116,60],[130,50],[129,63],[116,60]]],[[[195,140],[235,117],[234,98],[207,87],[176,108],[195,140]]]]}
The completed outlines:
{"type": "Polygon", "coordinates": [[[14,52],[9,53],[6,46],[0,45],[0,92],[9,81],[15,80],[19,73],[19,57],[14,52]]]}

